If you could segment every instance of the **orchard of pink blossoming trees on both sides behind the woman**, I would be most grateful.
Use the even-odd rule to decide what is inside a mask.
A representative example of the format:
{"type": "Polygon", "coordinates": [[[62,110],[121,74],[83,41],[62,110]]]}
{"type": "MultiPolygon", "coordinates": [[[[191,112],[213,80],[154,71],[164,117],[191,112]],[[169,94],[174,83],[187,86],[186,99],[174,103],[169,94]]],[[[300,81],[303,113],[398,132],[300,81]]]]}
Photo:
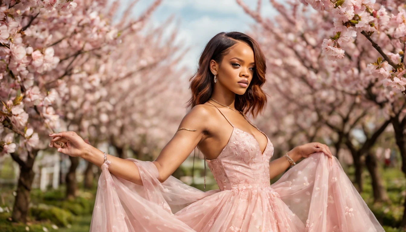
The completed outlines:
{"type": "MultiPolygon", "coordinates": [[[[121,158],[153,160],[190,110],[188,77],[196,70],[178,67],[188,48],[175,43],[177,28],[167,31],[173,17],[152,27],[161,0],[134,18],[136,2],[0,1],[0,175],[6,158],[18,168],[9,220],[32,216],[36,172],[46,173],[39,162],[60,172],[69,160],[64,180],[60,172],[52,183],[64,184],[63,199],[95,187],[100,170],[50,149],[48,134],[72,130],[121,158]]],[[[274,143],[274,157],[303,143],[329,145],[378,220],[406,228],[405,2],[270,3],[274,17],[261,15],[261,0],[255,8],[235,0],[255,20],[244,33],[266,56],[262,88],[270,98],[254,121],[274,143]]],[[[200,187],[203,160],[190,171],[193,155],[176,177],[200,187]]]]}

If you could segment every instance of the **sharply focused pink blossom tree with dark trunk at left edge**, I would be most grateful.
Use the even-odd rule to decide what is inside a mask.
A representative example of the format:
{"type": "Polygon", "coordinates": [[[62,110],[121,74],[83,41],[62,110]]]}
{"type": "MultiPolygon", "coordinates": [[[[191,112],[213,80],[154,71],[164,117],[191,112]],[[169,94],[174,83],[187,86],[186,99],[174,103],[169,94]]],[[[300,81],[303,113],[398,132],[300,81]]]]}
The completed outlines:
{"type": "Polygon", "coordinates": [[[55,1],[3,1],[0,5],[0,152],[11,154],[20,167],[12,216],[15,221],[26,221],[32,166],[38,151],[46,147],[41,141],[60,127],[52,106],[58,94],[41,86],[46,74],[56,72],[60,63],[47,26],[52,20],[63,22],[76,7],[76,2],[55,1]]]}

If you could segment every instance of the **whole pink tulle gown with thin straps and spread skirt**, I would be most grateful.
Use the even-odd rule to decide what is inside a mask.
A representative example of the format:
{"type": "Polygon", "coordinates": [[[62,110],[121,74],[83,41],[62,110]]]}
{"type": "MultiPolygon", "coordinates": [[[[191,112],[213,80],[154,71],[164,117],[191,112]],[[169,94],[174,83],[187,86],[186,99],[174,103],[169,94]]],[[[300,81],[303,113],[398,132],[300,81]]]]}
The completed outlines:
{"type": "Polygon", "coordinates": [[[305,158],[271,185],[269,161],[274,147],[267,140],[262,154],[253,135],[233,126],[218,158],[206,159],[219,186],[206,192],[173,176],[160,183],[151,161],[129,158],[143,181],[143,185],[134,184],[111,175],[107,160],[90,231],[384,231],[337,158],[323,152],[305,158]]]}

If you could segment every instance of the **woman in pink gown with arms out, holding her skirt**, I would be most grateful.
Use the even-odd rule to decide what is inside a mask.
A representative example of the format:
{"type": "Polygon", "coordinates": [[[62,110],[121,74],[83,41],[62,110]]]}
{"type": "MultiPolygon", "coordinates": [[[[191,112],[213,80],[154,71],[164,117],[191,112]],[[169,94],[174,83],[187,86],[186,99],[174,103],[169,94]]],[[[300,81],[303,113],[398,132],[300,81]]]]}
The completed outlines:
{"type": "Polygon", "coordinates": [[[251,37],[213,37],[191,79],[192,109],[154,161],[111,156],[75,132],[50,134],[59,152],[102,168],[91,231],[383,232],[326,145],[300,145],[269,162],[271,141],[245,116],[266,104],[265,73],[251,37]],[[219,189],[171,176],[196,146],[219,189]]]}

